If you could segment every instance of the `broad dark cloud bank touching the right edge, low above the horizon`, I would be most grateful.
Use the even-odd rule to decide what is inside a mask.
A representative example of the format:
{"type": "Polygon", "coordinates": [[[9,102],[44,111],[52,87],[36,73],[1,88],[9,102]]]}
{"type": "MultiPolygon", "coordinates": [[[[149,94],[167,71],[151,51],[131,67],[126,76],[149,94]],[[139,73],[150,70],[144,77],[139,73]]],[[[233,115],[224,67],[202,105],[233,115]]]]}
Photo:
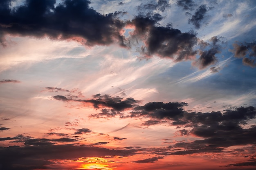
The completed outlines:
{"type": "Polygon", "coordinates": [[[256,109],[254,107],[239,107],[236,110],[226,110],[223,113],[220,111],[184,113],[182,119],[187,122],[184,127],[192,127],[189,133],[204,139],[189,143],[176,143],[174,148],[186,150],[173,154],[192,154],[199,153],[202,149],[207,151],[221,147],[256,145],[256,126],[253,125],[248,129],[242,127],[249,120],[255,118],[256,109]]]}

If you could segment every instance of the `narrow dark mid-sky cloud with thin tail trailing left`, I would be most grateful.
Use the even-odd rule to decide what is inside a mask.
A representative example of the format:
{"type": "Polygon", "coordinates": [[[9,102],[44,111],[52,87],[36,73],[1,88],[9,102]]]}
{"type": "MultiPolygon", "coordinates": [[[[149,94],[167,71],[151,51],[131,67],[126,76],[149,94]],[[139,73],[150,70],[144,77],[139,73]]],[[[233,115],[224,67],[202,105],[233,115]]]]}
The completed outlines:
{"type": "MultiPolygon", "coordinates": [[[[110,107],[114,109],[115,111],[123,111],[124,109],[132,108],[136,105],[138,102],[137,100],[134,100],[133,98],[126,98],[125,100],[120,97],[111,97],[108,95],[101,96],[100,94],[94,95],[95,99],[89,99],[89,100],[75,100],[72,98],[66,98],[65,96],[53,96],[56,100],[62,100],[62,101],[76,101],[76,102],[83,102],[83,103],[91,103],[94,108],[99,107],[110,107]]],[[[92,114],[92,117],[101,117],[101,116],[110,116],[110,114],[106,113],[107,110],[103,110],[103,113],[100,113],[99,115],[92,114]]],[[[114,114],[114,113],[113,113],[114,114]]]]}

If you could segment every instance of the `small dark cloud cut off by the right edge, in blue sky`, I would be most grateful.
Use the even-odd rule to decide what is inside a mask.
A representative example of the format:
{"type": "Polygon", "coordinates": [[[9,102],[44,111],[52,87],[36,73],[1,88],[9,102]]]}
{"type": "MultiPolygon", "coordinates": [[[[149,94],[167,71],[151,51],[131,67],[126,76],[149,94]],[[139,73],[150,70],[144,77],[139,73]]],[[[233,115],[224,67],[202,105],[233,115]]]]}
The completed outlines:
{"type": "Polygon", "coordinates": [[[243,58],[243,63],[254,68],[256,66],[256,42],[252,43],[235,43],[234,49],[229,50],[237,58],[243,58]]]}

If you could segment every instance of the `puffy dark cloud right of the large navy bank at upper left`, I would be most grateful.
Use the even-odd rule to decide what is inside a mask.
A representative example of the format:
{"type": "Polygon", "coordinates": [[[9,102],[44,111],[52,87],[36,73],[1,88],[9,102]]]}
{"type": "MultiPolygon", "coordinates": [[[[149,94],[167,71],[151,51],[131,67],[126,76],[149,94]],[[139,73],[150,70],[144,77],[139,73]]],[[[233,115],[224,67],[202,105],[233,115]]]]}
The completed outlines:
{"type": "Polygon", "coordinates": [[[171,26],[155,26],[156,22],[150,17],[137,16],[128,23],[135,26],[132,38],[145,41],[141,52],[147,56],[155,54],[175,61],[193,59],[196,54],[193,50],[197,44],[196,34],[193,31],[182,33],[171,26]]]}

